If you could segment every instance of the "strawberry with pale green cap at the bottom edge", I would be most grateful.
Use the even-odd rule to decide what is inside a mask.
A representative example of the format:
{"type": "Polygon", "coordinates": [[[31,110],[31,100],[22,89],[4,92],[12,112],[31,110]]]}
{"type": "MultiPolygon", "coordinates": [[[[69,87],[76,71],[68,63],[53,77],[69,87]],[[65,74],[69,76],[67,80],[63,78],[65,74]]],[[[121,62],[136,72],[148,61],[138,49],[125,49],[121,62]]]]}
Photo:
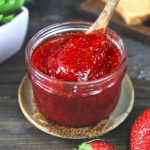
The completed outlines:
{"type": "Polygon", "coordinates": [[[117,150],[117,149],[107,142],[94,140],[82,143],[81,145],[79,145],[78,150],[117,150]]]}

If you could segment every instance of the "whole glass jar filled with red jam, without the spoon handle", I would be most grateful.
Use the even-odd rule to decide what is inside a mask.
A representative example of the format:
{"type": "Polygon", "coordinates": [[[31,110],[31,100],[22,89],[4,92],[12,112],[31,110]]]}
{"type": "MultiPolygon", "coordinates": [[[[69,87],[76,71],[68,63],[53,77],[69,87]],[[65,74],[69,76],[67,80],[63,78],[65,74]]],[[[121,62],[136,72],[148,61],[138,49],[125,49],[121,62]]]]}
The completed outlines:
{"type": "Polygon", "coordinates": [[[107,36],[103,30],[85,34],[88,26],[85,22],[49,26],[26,48],[39,111],[63,126],[89,126],[108,118],[120,97],[126,47],[110,29],[107,36]]]}

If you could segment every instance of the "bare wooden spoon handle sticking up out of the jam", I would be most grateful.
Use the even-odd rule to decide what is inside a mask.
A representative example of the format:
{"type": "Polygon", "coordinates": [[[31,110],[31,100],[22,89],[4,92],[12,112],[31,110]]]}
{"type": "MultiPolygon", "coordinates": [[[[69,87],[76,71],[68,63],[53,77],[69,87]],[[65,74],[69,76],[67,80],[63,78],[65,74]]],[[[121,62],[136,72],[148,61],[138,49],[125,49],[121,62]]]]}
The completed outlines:
{"type": "Polygon", "coordinates": [[[120,0],[108,0],[103,11],[100,13],[97,20],[90,26],[86,33],[90,33],[93,30],[99,30],[101,28],[107,28],[112,14],[120,0]]]}

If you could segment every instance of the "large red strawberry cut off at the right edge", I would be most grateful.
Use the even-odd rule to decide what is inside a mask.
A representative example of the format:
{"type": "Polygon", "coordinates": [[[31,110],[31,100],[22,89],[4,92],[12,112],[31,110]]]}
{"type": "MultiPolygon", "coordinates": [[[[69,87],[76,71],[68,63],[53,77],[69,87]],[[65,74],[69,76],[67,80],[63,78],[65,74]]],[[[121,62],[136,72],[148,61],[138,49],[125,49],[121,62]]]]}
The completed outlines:
{"type": "Polygon", "coordinates": [[[150,150],[150,108],[139,115],[131,128],[131,150],[150,150]]]}

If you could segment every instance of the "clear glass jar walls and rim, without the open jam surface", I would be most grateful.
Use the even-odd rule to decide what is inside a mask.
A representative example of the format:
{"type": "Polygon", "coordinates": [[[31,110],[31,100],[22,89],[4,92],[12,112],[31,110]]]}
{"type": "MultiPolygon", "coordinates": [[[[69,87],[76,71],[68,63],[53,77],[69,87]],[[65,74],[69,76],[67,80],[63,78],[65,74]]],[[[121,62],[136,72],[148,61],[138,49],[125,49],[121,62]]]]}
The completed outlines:
{"type": "Polygon", "coordinates": [[[36,33],[26,47],[27,72],[39,111],[48,120],[63,126],[89,126],[109,117],[120,97],[127,67],[127,48],[115,32],[107,29],[108,40],[120,50],[121,64],[112,73],[86,82],[51,79],[33,66],[32,53],[46,39],[53,39],[63,33],[86,31],[90,25],[89,22],[50,25],[36,33]]]}

